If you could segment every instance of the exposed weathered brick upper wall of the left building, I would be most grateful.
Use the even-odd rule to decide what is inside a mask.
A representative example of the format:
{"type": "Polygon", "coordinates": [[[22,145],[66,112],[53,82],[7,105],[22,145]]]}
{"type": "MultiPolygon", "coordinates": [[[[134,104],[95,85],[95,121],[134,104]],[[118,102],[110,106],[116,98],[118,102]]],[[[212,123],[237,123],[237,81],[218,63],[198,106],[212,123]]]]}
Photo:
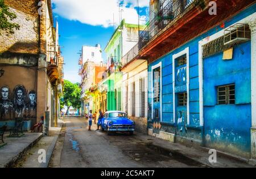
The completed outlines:
{"type": "Polygon", "coordinates": [[[34,13],[37,5],[34,7],[35,3],[32,2],[35,1],[5,1],[6,5],[10,6],[10,11],[16,14],[17,18],[13,22],[18,23],[20,29],[9,36],[1,32],[0,54],[39,52],[39,18],[38,13],[34,13]]]}

